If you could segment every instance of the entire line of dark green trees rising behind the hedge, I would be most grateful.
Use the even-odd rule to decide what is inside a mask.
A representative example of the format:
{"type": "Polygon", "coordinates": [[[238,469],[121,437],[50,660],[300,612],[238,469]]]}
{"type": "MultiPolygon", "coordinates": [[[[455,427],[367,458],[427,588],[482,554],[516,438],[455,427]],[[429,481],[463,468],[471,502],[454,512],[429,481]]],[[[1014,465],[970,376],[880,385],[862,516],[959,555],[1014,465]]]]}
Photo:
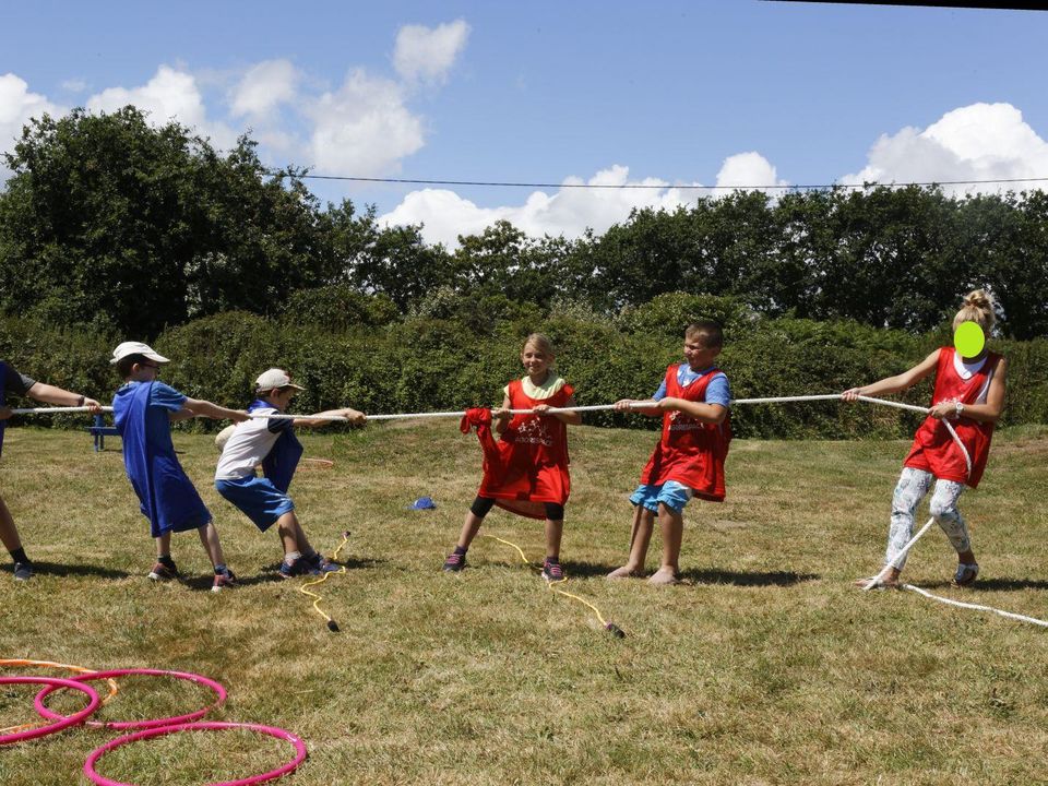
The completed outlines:
{"type": "Polygon", "coordinates": [[[227,311],[275,318],[291,297],[338,319],[388,322],[432,308],[437,290],[615,317],[687,291],[766,319],[916,335],[986,287],[1004,337],[1048,335],[1041,191],[735,192],[638,210],[574,239],[499,222],[451,250],[420,227],[380,226],[373,206],[322,204],[305,170],[270,171],[248,135],[221,153],[133,107],[33,120],[5,158],[0,311],[47,324],[148,340],[227,311]]]}

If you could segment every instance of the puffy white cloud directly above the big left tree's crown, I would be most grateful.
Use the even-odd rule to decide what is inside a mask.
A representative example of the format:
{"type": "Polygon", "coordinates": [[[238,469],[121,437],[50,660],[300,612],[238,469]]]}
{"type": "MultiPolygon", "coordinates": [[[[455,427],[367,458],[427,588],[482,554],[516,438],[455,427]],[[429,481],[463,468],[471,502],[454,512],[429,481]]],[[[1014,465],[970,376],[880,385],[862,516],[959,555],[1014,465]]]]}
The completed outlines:
{"type": "Polygon", "coordinates": [[[169,66],[160,66],[153,79],[141,87],[109,87],[91,96],[86,106],[88,111],[112,112],[128,104],[148,112],[150,120],[157,126],[177,120],[210,136],[219,148],[231,147],[236,142],[237,134],[233,129],[207,119],[204,99],[193,75],[169,66]]]}

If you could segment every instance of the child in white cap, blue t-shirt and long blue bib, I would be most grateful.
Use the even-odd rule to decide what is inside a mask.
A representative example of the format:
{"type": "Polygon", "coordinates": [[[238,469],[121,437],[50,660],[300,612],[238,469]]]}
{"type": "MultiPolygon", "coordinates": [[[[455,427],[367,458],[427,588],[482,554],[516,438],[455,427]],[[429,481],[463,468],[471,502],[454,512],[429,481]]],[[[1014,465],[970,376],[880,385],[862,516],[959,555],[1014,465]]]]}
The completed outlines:
{"type": "Polygon", "coordinates": [[[234,586],[236,576],[226,567],[211,512],[175,455],[170,424],[196,416],[239,422],[247,413],[189,398],[159,382],[159,364],[169,361],[146,344],[124,342],[109,362],[126,381],[112,398],[114,420],[123,440],[123,466],[156,539],[156,564],[150,579],[179,577],[171,559],[171,533],[195,529],[215,568],[212,591],[234,586]]]}

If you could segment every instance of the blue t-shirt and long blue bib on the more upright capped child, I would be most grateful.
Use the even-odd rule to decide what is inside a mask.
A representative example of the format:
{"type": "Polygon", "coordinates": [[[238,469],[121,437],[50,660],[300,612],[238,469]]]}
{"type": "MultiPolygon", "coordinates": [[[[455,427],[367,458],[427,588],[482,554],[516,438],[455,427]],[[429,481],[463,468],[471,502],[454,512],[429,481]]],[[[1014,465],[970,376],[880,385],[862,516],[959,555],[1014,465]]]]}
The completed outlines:
{"type": "Polygon", "coordinates": [[[195,529],[211,521],[171,442],[168,414],[184,403],[184,395],[163,382],[129,382],[112,397],[114,424],[123,440],[123,467],[153,537],[195,529]]]}

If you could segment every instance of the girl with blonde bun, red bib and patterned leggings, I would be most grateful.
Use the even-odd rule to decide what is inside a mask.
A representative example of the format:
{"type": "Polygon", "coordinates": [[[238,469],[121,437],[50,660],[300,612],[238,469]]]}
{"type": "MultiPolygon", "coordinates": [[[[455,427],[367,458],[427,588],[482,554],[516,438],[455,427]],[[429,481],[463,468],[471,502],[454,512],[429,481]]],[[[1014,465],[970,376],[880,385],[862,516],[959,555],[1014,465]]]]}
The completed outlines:
{"type": "MultiPolygon", "coordinates": [[[[953,329],[965,322],[977,324],[984,335],[993,327],[993,301],[981,289],[964,298],[964,305],[953,318],[953,329]]],[[[914,515],[921,499],[936,481],[931,497],[931,515],[942,527],[957,552],[954,584],[968,586],[975,582],[979,565],[972,551],[967,525],[957,499],[965,486],[976,488],[986,469],[986,460],[993,437],[993,425],[1004,407],[1004,372],[1002,356],[987,350],[974,357],[963,357],[953,347],[941,347],[896,377],[889,377],[864,388],[853,388],[842,394],[845,401],[856,396],[873,396],[906,390],[931,373],[936,389],[931,396],[931,412],[917,429],[914,444],[903,462],[903,472],[892,499],[892,521],[888,536],[885,564],[891,570],[881,580],[885,586],[898,586],[898,576],[905,556],[896,556],[913,536],[914,515]],[[943,420],[949,420],[957,438],[954,439],[943,420]],[[958,444],[960,442],[960,444],[958,444]],[[897,562],[897,564],[895,564],[897,562]]],[[[857,585],[866,586],[869,580],[857,585]]]]}

